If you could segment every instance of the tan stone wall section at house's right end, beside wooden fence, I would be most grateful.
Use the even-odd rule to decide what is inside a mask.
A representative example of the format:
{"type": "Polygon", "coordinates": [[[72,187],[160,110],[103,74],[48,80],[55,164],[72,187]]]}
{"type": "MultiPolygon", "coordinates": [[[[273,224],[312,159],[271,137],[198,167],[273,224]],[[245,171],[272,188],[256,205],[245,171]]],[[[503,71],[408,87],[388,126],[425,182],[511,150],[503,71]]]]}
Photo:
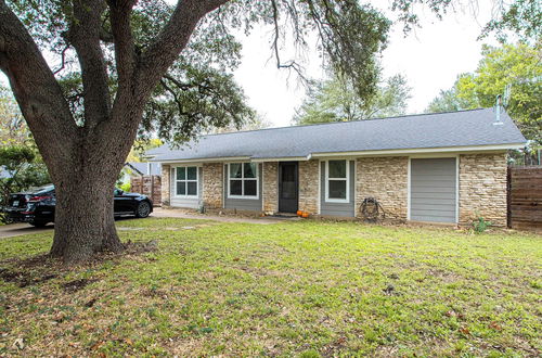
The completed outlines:
{"type": "Polygon", "coordinates": [[[506,226],[506,153],[460,155],[460,223],[506,226]]]}

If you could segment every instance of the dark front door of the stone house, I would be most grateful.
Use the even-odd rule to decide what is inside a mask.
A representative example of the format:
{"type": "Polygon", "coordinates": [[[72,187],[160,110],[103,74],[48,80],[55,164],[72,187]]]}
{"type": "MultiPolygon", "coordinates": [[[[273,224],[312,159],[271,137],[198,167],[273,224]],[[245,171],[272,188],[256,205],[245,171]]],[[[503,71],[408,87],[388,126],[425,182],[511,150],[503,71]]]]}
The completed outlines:
{"type": "Polygon", "coordinates": [[[297,162],[279,163],[279,212],[296,213],[298,208],[299,172],[297,162]]]}

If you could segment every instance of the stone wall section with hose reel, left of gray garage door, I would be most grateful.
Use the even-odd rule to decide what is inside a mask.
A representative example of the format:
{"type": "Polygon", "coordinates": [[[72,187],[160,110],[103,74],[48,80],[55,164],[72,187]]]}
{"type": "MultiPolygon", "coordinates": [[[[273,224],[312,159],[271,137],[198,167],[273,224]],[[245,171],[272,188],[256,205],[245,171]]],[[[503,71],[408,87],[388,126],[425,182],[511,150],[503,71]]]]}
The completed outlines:
{"type": "Polygon", "coordinates": [[[356,163],[356,216],[365,197],[375,197],[386,218],[406,220],[408,156],[361,157],[356,163]]]}

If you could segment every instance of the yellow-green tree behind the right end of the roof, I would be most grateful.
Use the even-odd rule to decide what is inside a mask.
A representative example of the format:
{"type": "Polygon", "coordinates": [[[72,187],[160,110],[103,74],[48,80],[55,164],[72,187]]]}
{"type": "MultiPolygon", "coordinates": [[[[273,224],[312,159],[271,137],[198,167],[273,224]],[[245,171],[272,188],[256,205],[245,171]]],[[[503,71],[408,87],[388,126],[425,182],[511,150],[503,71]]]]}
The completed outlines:
{"type": "Polygon", "coordinates": [[[451,89],[441,91],[429,104],[428,112],[491,107],[496,95],[511,86],[506,112],[527,139],[542,143],[540,47],[521,42],[485,46],[482,55],[478,68],[460,75],[451,89]]]}

